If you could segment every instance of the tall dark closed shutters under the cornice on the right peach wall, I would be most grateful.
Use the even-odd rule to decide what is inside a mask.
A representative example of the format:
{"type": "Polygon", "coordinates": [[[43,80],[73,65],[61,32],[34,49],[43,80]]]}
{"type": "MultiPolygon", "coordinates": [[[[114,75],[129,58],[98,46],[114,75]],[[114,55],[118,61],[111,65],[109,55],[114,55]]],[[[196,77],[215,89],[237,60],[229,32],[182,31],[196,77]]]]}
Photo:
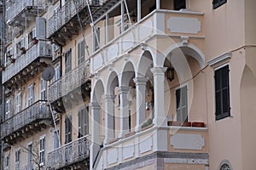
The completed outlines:
{"type": "Polygon", "coordinates": [[[230,116],[230,70],[229,65],[215,70],[215,116],[216,120],[230,116]]]}

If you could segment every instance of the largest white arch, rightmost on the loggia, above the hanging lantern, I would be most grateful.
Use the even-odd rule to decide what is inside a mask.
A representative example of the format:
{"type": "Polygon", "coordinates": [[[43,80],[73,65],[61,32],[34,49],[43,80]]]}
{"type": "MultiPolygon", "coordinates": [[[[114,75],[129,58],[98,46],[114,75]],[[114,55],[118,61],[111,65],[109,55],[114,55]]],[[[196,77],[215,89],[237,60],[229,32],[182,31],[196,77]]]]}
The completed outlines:
{"type": "MultiPolygon", "coordinates": [[[[164,56],[168,56],[169,54],[172,54],[172,51],[179,48],[180,53],[183,53],[184,55],[190,55],[194,59],[196,59],[201,66],[201,69],[205,67],[205,55],[201,52],[201,50],[195,45],[188,43],[187,45],[184,45],[183,42],[178,42],[173,45],[171,45],[169,48],[166,49],[164,52],[164,56]]],[[[158,63],[160,63],[160,66],[164,65],[165,59],[162,59],[158,63]]],[[[159,60],[160,60],[159,59],[159,60]]]]}

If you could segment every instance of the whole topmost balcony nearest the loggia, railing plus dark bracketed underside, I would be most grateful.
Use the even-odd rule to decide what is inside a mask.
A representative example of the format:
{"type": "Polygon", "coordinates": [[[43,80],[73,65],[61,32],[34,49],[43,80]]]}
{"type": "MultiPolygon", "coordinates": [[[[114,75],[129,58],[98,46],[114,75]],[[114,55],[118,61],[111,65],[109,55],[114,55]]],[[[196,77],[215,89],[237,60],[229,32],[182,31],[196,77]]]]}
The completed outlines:
{"type": "Polygon", "coordinates": [[[71,39],[71,35],[78,35],[79,22],[89,15],[87,5],[90,5],[93,12],[102,4],[100,0],[89,0],[88,2],[89,4],[86,1],[67,1],[47,21],[47,37],[59,45],[65,45],[65,42],[71,39]],[[77,14],[79,14],[79,19],[77,14]]]}

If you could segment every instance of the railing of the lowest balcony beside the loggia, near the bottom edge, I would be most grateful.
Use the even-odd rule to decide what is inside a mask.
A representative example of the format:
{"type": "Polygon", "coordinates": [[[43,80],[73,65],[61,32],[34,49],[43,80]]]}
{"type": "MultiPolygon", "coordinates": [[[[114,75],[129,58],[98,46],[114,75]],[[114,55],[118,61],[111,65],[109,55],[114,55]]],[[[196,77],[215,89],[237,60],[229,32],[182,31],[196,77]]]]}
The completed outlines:
{"type": "Polygon", "coordinates": [[[84,161],[89,157],[88,136],[74,140],[48,153],[48,166],[58,169],[73,163],[84,161]]]}

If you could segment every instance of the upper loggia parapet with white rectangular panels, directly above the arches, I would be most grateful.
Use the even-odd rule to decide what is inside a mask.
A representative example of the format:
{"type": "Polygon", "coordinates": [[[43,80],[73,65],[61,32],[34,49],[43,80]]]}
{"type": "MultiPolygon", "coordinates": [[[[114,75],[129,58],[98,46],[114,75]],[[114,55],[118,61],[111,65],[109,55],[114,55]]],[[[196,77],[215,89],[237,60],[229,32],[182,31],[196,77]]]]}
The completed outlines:
{"type": "Polygon", "coordinates": [[[114,60],[129,57],[124,54],[131,53],[139,46],[143,48],[146,42],[157,37],[166,37],[172,43],[182,42],[183,37],[193,37],[202,41],[204,39],[202,19],[203,14],[199,12],[154,10],[123,33],[117,34],[110,42],[102,44],[101,48],[91,55],[91,74],[111,65],[114,60]]]}

